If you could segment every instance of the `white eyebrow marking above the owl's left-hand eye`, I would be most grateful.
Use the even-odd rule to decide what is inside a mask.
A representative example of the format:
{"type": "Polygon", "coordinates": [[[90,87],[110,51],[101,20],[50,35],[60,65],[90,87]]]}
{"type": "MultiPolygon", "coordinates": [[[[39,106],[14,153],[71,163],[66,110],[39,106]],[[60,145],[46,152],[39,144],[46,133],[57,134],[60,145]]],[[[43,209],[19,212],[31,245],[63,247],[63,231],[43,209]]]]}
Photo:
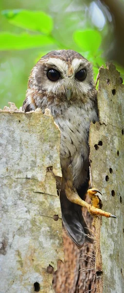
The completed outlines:
{"type": "Polygon", "coordinates": [[[64,71],[68,70],[68,64],[64,60],[61,60],[59,58],[50,58],[48,59],[47,64],[56,66],[58,70],[63,73],[64,71]]]}

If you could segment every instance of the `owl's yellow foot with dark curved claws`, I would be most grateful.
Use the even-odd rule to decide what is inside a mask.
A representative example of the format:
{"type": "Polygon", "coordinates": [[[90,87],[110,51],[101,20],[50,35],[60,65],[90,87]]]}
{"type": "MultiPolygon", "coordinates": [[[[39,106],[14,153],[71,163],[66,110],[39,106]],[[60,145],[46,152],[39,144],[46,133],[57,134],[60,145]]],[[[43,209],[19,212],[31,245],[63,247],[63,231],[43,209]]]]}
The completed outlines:
{"type": "Polygon", "coordinates": [[[107,218],[111,217],[111,218],[117,218],[116,216],[112,215],[110,212],[106,212],[102,209],[100,209],[100,201],[98,196],[96,195],[96,193],[99,192],[101,195],[102,193],[94,188],[90,188],[88,189],[88,194],[89,197],[91,199],[91,203],[92,205],[89,205],[88,207],[88,211],[92,216],[105,216],[107,218]]]}

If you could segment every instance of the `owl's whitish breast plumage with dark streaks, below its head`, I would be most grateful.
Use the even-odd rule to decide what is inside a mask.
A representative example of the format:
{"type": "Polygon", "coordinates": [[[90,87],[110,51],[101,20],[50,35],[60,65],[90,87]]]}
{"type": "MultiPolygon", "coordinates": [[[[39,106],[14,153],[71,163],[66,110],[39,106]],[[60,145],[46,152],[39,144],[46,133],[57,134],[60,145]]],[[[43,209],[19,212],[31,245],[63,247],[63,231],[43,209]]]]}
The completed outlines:
{"type": "Polygon", "coordinates": [[[87,178],[89,169],[89,126],[98,120],[95,109],[71,106],[62,116],[55,118],[61,133],[60,161],[62,171],[71,167],[75,188],[87,178]]]}

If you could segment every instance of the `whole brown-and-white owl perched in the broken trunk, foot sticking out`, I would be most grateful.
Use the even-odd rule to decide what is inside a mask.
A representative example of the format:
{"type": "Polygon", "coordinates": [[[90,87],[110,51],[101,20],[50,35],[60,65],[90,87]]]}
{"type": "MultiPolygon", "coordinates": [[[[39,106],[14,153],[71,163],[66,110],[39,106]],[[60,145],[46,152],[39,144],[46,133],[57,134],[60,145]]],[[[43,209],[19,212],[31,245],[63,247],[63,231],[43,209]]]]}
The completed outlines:
{"type": "Polygon", "coordinates": [[[105,215],[98,209],[97,190],[89,192],[92,202],[95,196],[94,206],[84,201],[89,181],[89,126],[98,121],[91,63],[73,50],[56,50],[43,56],[31,71],[22,109],[27,112],[37,107],[42,113],[49,108],[60,129],[62,220],[80,248],[84,241],[92,241],[81,207],[93,215],[98,211],[105,215]]]}

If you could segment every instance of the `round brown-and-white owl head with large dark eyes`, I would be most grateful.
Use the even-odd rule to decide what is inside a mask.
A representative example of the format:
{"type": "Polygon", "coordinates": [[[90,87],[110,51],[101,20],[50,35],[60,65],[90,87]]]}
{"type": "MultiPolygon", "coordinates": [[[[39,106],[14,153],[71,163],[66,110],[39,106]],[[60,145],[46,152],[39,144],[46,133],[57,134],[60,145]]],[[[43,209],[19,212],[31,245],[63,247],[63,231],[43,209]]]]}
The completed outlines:
{"type": "Polygon", "coordinates": [[[44,110],[48,105],[85,103],[92,91],[93,71],[87,59],[73,50],[51,51],[31,71],[23,108],[44,110]]]}

